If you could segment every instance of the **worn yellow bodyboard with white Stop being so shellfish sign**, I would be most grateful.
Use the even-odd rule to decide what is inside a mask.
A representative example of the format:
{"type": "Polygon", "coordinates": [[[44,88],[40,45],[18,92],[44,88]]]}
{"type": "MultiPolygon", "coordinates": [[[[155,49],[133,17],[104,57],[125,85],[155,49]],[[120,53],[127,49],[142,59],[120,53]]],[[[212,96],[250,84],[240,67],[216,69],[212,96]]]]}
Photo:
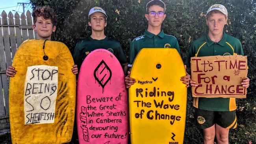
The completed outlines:
{"type": "Polygon", "coordinates": [[[9,85],[13,144],[66,143],[72,137],[76,100],[76,77],[71,70],[74,61],[62,42],[46,41],[43,51],[44,42],[23,42],[13,59],[12,66],[17,70],[9,85]],[[44,55],[48,56],[47,60],[43,59],[44,55]],[[38,69],[29,71],[29,67],[38,69]],[[56,70],[42,69],[48,67],[56,70]],[[44,83],[43,80],[51,81],[53,77],[57,78],[56,83],[44,83]],[[27,79],[35,81],[26,83],[27,79]],[[56,97],[52,99],[54,94],[56,97]],[[37,107],[40,110],[33,112],[37,107]],[[46,112],[49,109],[52,109],[50,114],[46,112]]]}

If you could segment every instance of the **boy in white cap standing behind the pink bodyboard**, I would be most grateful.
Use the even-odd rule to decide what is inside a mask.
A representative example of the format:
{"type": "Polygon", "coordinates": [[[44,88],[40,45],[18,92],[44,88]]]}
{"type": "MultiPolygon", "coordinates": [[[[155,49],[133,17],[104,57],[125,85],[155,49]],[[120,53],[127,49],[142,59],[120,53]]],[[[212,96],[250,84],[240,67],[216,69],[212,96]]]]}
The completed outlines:
{"type": "Polygon", "coordinates": [[[85,57],[93,50],[104,48],[112,52],[122,65],[124,73],[127,72],[127,59],[121,44],[115,40],[109,39],[104,34],[104,28],[107,26],[106,12],[101,7],[93,7],[89,11],[89,26],[91,26],[91,35],[82,41],[76,43],[73,53],[74,63],[78,65],[78,70],[85,57]]]}

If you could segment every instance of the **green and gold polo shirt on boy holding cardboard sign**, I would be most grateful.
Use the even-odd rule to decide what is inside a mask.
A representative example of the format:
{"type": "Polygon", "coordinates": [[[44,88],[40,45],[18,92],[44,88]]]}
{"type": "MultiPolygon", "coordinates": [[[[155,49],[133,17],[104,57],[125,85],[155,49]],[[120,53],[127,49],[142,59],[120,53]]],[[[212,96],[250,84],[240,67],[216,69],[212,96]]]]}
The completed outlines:
{"type": "MultiPolygon", "coordinates": [[[[224,32],[223,32],[224,33],[224,32]]],[[[191,57],[213,55],[244,55],[241,42],[226,33],[219,42],[213,42],[208,34],[191,43],[185,64],[190,68],[191,57]]],[[[194,98],[193,106],[208,111],[234,111],[235,98],[194,98]]]]}

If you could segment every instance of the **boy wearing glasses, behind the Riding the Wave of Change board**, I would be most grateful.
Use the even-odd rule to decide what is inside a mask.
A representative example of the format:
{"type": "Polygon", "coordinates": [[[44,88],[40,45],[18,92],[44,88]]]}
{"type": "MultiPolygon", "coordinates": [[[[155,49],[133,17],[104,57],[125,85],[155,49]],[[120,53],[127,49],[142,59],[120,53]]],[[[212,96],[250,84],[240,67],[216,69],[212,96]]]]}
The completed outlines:
{"type": "MultiPolygon", "coordinates": [[[[144,35],[136,37],[131,43],[129,67],[132,67],[136,55],[142,48],[175,48],[180,54],[177,39],[172,35],[165,35],[163,30],[161,30],[161,24],[166,17],[165,3],[161,0],[151,0],[147,3],[146,8],[147,13],[145,17],[148,20],[148,28],[145,30],[144,35]]],[[[128,71],[128,74],[130,75],[130,71],[128,71]]],[[[129,75],[125,78],[126,88],[130,88],[136,82],[129,75]]],[[[181,78],[186,87],[189,86],[189,80],[189,74],[181,78]]]]}

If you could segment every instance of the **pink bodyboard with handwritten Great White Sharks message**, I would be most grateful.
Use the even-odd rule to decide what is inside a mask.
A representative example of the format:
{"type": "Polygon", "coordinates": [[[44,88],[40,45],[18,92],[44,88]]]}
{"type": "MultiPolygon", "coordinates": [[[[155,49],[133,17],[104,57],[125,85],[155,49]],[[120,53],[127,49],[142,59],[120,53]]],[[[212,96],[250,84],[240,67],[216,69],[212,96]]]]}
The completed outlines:
{"type": "Polygon", "coordinates": [[[108,50],[84,59],[78,75],[76,124],[80,144],[127,144],[128,102],[124,72],[108,50]]]}

